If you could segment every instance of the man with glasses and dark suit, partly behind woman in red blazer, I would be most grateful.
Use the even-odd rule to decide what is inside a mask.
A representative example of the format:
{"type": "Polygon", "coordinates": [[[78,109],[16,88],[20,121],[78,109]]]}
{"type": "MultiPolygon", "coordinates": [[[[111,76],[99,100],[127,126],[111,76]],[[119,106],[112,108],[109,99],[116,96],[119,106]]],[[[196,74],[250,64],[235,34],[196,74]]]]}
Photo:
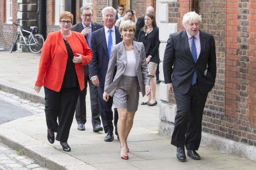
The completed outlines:
{"type": "MultiPolygon", "coordinates": [[[[91,6],[82,6],[81,7],[81,23],[73,25],[71,28],[72,31],[81,32],[89,47],[91,48],[91,35],[93,31],[96,31],[103,27],[103,25],[92,22],[92,7],[91,6]]],[[[90,89],[90,99],[91,99],[91,112],[92,112],[92,126],[93,132],[102,131],[103,128],[100,126],[100,110],[98,102],[98,88],[92,84],[92,81],[89,79],[89,66],[84,66],[84,83],[85,88],[80,92],[79,98],[76,105],[76,121],[77,129],[84,131],[86,123],[86,102],[85,97],[87,94],[87,82],[89,82],[90,89]]]]}

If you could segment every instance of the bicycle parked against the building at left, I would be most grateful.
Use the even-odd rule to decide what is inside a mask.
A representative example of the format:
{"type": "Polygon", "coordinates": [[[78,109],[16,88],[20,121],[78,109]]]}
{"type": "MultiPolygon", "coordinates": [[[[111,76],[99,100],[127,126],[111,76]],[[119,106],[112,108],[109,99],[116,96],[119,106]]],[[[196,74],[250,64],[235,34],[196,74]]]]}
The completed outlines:
{"type": "Polygon", "coordinates": [[[37,27],[31,26],[30,29],[22,27],[19,23],[13,23],[14,25],[18,26],[17,33],[11,43],[11,49],[10,52],[14,52],[17,50],[17,41],[19,37],[21,36],[23,39],[23,42],[21,43],[21,46],[28,46],[28,49],[31,53],[37,54],[40,53],[44,44],[44,37],[36,33],[37,27]]]}

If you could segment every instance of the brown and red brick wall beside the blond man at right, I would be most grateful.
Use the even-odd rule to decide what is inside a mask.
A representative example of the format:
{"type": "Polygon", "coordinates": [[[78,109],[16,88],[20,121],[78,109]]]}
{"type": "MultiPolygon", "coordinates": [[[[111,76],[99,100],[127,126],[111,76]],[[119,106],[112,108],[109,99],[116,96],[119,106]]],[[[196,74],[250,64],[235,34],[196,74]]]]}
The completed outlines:
{"type": "MultiPolygon", "coordinates": [[[[197,1],[198,2],[198,1],[197,1]]],[[[188,1],[169,4],[169,22],[191,11],[188,1]]],[[[198,2],[201,30],[215,39],[217,77],[203,116],[203,131],[256,146],[256,1],[198,2]]],[[[171,103],[175,103],[170,94],[171,103]]]]}

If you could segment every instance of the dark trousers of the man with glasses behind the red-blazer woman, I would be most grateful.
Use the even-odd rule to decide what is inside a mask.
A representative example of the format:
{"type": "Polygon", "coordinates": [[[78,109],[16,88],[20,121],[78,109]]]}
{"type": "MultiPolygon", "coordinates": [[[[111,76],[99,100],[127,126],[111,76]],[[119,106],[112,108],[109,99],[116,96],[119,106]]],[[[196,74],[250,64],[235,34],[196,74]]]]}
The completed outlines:
{"type": "Polygon", "coordinates": [[[90,100],[91,100],[91,112],[92,112],[92,126],[94,127],[97,124],[101,124],[100,122],[100,107],[98,101],[98,88],[94,86],[92,81],[89,79],[87,75],[84,78],[84,90],[80,91],[79,98],[77,100],[76,105],[76,122],[85,124],[86,123],[86,94],[87,94],[87,82],[89,82],[90,89],[90,100]]]}

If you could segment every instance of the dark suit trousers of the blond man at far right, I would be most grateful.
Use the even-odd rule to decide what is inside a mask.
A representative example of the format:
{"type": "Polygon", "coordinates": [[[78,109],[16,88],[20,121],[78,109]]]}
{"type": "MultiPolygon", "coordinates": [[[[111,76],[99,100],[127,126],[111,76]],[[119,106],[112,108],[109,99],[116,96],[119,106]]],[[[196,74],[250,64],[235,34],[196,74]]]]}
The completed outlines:
{"type": "Polygon", "coordinates": [[[171,144],[176,147],[198,150],[202,134],[202,116],[208,94],[201,94],[197,84],[187,94],[174,91],[177,115],[171,144]]]}

